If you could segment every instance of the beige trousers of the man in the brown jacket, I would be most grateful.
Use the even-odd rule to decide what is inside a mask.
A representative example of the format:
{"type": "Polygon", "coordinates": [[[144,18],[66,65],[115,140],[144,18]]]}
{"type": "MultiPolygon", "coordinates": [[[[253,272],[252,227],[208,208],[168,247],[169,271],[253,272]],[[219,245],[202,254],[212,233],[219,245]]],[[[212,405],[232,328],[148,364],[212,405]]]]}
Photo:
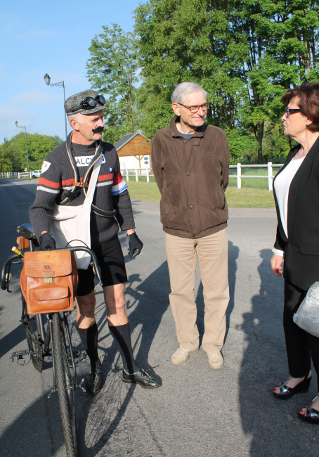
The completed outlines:
{"type": "Polygon", "coordinates": [[[171,281],[169,302],[177,340],[185,349],[193,350],[199,346],[194,290],[198,259],[205,304],[202,348],[206,352],[220,351],[226,333],[225,314],[229,302],[226,228],[196,240],[165,233],[165,240],[171,281]]]}

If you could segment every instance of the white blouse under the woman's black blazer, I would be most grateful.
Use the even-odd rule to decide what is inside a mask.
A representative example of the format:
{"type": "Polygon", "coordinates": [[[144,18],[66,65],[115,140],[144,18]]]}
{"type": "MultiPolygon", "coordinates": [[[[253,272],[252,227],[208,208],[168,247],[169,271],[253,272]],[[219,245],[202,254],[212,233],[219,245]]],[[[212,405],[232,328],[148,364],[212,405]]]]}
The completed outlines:
{"type": "MultiPolygon", "coordinates": [[[[292,159],[287,165],[287,167],[284,170],[282,170],[282,172],[277,176],[274,182],[275,194],[277,197],[282,228],[284,229],[287,238],[287,212],[289,187],[292,183],[292,179],[294,179],[294,175],[297,173],[303,160],[304,157],[301,157],[301,159],[292,159]]],[[[278,249],[275,249],[275,247],[273,248],[273,252],[274,254],[283,255],[283,252],[278,249]]]]}

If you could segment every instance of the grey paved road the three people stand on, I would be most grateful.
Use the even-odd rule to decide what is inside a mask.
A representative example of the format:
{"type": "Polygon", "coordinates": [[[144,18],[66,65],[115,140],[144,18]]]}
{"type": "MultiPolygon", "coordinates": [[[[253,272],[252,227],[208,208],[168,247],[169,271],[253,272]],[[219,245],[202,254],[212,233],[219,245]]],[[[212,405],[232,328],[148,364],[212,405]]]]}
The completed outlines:
{"type": "MultiPolygon", "coordinates": [[[[31,181],[0,182],[0,262],[15,242],[15,227],[28,220],[34,199],[31,181]]],[[[108,332],[105,306],[96,288],[99,352],[106,377],[96,398],[77,392],[82,457],[294,457],[318,456],[318,427],[301,423],[299,406],[308,394],[276,401],[272,387],[287,376],[282,333],[282,278],[269,269],[275,235],[273,210],[230,210],[228,333],[225,364],[209,368],[201,350],[187,364],[172,366],[176,350],[169,309],[169,276],[159,206],[134,200],[138,235],[144,242],[136,259],[126,255],[126,299],[134,354],[154,370],[163,385],[155,391],[123,385],[119,354],[108,332]]],[[[126,237],[120,235],[126,254],[126,237]]],[[[18,273],[18,271],[16,271],[18,273]]],[[[203,292],[196,283],[198,326],[203,330],[203,292]]],[[[58,399],[47,398],[51,364],[41,375],[32,364],[11,363],[8,356],[26,347],[20,318],[18,275],[13,293],[1,291],[0,317],[0,456],[65,456],[58,399]]],[[[79,345],[74,323],[73,340],[79,345]]],[[[88,363],[80,366],[87,373],[88,363]]]]}

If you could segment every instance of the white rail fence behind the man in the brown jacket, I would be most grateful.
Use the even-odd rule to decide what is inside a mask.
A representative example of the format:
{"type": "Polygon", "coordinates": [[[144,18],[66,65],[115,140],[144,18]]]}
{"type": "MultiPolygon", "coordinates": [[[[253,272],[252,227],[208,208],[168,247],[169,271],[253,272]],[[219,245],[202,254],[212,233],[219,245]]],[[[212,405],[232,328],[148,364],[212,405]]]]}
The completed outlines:
{"type": "MultiPolygon", "coordinates": [[[[237,165],[230,165],[230,169],[237,169],[237,174],[230,174],[229,177],[231,179],[237,179],[237,188],[242,188],[242,179],[246,178],[254,178],[254,179],[268,179],[268,191],[273,190],[273,169],[280,168],[282,164],[273,164],[272,162],[268,162],[267,165],[242,165],[237,163],[237,165]],[[242,174],[242,168],[257,168],[257,169],[267,169],[267,174],[260,175],[260,174],[242,174]]],[[[129,181],[129,176],[134,176],[136,182],[138,182],[138,178],[141,176],[146,176],[146,182],[150,182],[150,176],[154,176],[152,173],[152,169],[122,169],[122,175],[126,177],[126,181],[129,181]]]]}

